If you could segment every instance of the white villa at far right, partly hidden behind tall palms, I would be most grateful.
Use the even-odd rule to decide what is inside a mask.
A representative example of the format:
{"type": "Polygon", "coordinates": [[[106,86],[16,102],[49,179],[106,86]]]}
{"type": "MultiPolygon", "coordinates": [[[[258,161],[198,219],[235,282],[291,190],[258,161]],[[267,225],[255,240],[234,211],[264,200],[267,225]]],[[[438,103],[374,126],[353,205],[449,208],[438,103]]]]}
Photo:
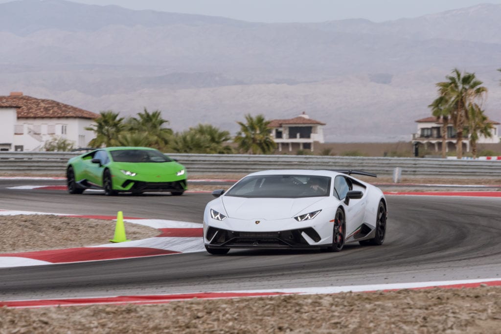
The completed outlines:
{"type": "MultiPolygon", "coordinates": [[[[425,147],[432,145],[435,152],[442,150],[442,120],[437,121],[436,117],[430,116],[422,118],[417,122],[417,133],[412,134],[413,144],[423,144],[425,147]]],[[[493,126],[492,137],[487,138],[480,135],[478,137],[478,144],[496,144],[499,143],[499,122],[490,121],[493,126]]],[[[446,147],[445,150],[455,150],[456,147],[456,131],[452,125],[447,126],[446,147]]],[[[469,152],[469,142],[467,138],[463,140],[463,149],[469,152]]]]}

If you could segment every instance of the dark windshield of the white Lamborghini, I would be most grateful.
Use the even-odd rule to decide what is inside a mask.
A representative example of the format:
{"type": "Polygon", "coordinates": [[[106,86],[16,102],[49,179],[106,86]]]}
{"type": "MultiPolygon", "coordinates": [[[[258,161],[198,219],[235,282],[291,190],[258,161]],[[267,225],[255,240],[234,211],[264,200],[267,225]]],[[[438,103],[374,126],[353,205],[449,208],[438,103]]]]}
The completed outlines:
{"type": "Polygon", "coordinates": [[[224,195],[235,197],[329,196],[331,178],[318,175],[254,175],[238,181],[224,195]]]}

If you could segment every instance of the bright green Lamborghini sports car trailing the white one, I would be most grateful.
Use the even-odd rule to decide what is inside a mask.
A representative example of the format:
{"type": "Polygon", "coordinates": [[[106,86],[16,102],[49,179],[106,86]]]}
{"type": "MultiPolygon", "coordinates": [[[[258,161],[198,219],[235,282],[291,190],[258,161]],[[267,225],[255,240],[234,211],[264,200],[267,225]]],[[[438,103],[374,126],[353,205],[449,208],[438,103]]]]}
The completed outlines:
{"type": "Polygon", "coordinates": [[[108,196],[145,191],[169,191],[178,196],[186,190],[186,168],[147,147],[106,147],[73,157],[66,177],[70,194],[103,189],[108,196]]]}

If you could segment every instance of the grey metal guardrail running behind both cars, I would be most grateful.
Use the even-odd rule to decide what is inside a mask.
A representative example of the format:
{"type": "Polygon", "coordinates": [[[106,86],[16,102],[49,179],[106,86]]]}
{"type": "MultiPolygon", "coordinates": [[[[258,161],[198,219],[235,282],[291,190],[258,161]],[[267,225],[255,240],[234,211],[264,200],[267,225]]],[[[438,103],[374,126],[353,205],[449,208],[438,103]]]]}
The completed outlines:
{"type": "MultiPolygon", "coordinates": [[[[65,176],[66,163],[82,152],[0,152],[0,174],[65,176]]],[[[247,174],[264,169],[358,169],[379,176],[501,178],[499,160],[341,157],[311,155],[166,153],[191,174],[247,174]]]]}

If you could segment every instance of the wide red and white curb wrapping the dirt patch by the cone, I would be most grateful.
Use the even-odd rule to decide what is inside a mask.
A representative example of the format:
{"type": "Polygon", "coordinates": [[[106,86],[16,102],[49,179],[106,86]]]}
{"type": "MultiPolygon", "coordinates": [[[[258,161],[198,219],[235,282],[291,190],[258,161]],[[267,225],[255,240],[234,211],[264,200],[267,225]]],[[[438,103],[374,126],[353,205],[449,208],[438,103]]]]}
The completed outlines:
{"type": "MultiPolygon", "coordinates": [[[[55,214],[81,218],[116,219],[114,216],[81,216],[32,211],[0,211],[0,215],[20,214],[55,214]]],[[[112,260],[205,251],[202,240],[201,224],[176,220],[139,219],[131,217],[125,217],[124,221],[150,226],[158,229],[160,233],[158,236],[152,238],[98,246],[0,254],[0,267],[112,260]]]]}

